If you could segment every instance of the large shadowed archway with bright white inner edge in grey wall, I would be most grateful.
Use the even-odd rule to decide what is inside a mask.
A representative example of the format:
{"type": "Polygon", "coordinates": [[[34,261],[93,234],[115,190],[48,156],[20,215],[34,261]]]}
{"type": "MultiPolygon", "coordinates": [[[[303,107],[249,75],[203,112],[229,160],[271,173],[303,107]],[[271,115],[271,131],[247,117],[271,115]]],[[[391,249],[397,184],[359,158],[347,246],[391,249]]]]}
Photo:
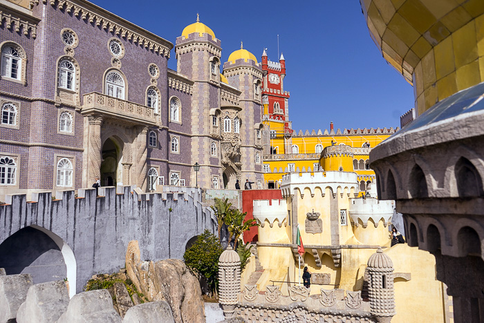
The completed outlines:
{"type": "Polygon", "coordinates": [[[66,278],[69,296],[77,284],[74,252],[61,237],[45,228],[23,228],[0,244],[0,264],[7,275],[30,274],[33,283],[53,282],[66,278]]]}

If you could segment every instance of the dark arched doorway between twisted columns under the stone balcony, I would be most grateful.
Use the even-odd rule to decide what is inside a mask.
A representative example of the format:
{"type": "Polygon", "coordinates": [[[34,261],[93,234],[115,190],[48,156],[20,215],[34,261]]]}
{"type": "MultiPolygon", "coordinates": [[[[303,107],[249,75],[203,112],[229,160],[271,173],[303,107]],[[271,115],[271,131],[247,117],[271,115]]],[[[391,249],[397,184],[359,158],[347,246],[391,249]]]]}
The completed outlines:
{"type": "Polygon", "coordinates": [[[122,140],[109,137],[102,145],[101,185],[117,186],[122,183],[122,140]]]}

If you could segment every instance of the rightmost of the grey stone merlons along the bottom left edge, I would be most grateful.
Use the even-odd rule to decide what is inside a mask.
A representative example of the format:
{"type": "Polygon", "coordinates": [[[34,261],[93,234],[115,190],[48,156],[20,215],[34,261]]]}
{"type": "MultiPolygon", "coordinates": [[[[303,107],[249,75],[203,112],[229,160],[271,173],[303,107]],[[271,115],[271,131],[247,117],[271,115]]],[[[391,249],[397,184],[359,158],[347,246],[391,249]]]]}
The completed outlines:
{"type": "Polygon", "coordinates": [[[133,306],[124,315],[122,323],[175,323],[167,302],[151,302],[133,306]]]}

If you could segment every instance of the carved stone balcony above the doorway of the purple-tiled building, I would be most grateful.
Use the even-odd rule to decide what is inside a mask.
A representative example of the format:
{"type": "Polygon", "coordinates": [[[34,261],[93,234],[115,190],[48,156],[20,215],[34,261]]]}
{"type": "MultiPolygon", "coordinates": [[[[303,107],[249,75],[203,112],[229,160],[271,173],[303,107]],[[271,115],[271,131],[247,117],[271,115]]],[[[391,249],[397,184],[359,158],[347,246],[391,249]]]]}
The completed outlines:
{"type": "Polygon", "coordinates": [[[81,113],[100,114],[132,124],[156,125],[155,109],[97,92],[84,94],[81,113]]]}

